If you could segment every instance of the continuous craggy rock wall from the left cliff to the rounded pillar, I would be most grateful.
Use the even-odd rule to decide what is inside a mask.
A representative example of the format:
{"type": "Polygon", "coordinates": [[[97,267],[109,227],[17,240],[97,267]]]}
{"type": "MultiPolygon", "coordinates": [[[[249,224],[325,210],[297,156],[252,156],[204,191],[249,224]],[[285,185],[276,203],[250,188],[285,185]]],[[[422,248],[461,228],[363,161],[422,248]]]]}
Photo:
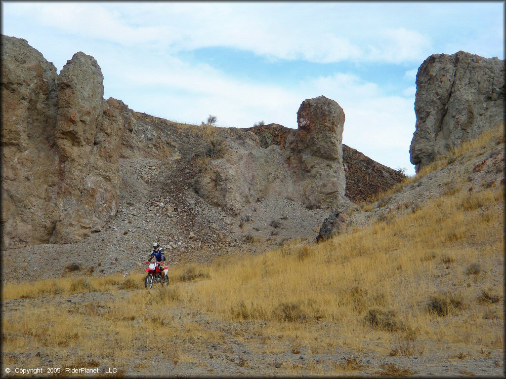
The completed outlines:
{"type": "MultiPolygon", "coordinates": [[[[345,115],[323,96],[302,103],[297,130],[278,124],[209,129],[105,101],[101,69],[84,53],[76,53],[60,75],[23,39],[2,36],[2,56],[4,249],[74,243],[100,230],[119,206],[121,158],[136,161],[126,167],[163,161],[177,176],[171,182],[178,198],[193,186],[233,216],[269,196],[309,210],[343,209],[350,205],[345,194],[359,199],[368,187],[346,189],[346,172],[355,185],[363,170],[351,170],[355,166],[343,157],[349,149],[342,145],[345,115]]],[[[139,172],[142,185],[167,180],[144,178],[149,167],[139,172]]],[[[388,181],[376,176],[367,182],[388,181]]]]}

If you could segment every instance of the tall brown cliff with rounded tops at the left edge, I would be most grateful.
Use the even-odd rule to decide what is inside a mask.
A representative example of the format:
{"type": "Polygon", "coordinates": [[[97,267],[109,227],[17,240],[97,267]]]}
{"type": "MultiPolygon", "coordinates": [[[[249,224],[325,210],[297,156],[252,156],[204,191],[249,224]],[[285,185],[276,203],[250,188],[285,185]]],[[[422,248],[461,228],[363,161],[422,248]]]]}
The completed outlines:
{"type": "Polygon", "coordinates": [[[70,243],[117,210],[126,106],[103,100],[97,61],[57,75],[25,40],[2,36],[2,246],[70,243]]]}

